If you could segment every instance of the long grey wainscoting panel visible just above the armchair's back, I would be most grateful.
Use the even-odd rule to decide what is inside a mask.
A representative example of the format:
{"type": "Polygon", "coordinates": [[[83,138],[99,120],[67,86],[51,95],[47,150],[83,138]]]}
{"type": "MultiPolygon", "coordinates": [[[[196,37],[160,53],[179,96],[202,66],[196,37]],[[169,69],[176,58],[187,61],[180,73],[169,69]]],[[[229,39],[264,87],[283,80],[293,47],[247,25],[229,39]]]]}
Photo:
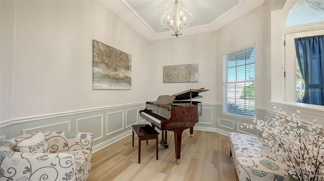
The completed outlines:
{"type": "Polygon", "coordinates": [[[43,127],[36,127],[28,130],[22,130],[22,134],[28,134],[28,133],[36,133],[39,131],[62,131],[62,132],[70,132],[71,131],[71,122],[62,122],[57,123],[53,125],[46,125],[43,127]]]}

